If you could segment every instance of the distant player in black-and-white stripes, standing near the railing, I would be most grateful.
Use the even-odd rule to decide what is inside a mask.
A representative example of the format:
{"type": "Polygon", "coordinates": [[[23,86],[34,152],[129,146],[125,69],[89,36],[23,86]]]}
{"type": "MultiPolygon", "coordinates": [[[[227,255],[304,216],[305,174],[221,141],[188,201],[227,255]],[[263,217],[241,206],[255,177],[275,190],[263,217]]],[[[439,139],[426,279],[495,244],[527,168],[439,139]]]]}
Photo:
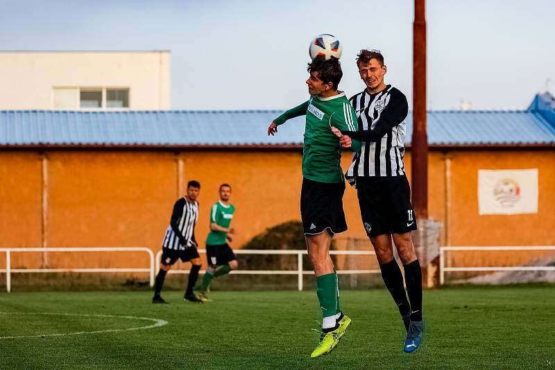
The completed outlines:
{"type": "Polygon", "coordinates": [[[190,181],[187,184],[187,195],[178,199],[176,204],[173,205],[171,220],[162,241],[162,263],[160,272],[156,276],[153,303],[167,303],[160,296],[160,292],[167,272],[178,258],[183,262],[191,262],[189,281],[183,299],[196,303],[203,302],[193,291],[201,265],[195,239],[195,225],[198,220],[198,202],[196,198],[199,191],[200,184],[194,180],[190,181]]]}

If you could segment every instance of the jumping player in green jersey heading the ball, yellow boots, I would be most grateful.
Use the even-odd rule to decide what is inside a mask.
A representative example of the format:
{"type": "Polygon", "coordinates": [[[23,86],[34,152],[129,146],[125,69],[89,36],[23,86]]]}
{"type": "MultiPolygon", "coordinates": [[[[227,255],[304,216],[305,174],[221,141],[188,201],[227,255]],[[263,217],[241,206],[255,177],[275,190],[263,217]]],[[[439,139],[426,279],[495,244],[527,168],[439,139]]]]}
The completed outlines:
{"type": "MultiPolygon", "coordinates": [[[[330,127],[356,130],[356,116],[345,93],[337,90],[343,77],[339,60],[316,58],[309,63],[308,72],[311,97],[275,118],[268,127],[268,135],[278,132],[278,125],[290,118],[307,116],[302,146],[300,213],[323,316],[320,342],[311,353],[311,358],[316,358],[334,349],[351,322],[339,308],[337,275],[330,257],[334,234],[347,230],[343,213],[345,179],[341,169],[341,145],[330,127]]],[[[351,150],[360,149],[358,141],[351,144],[351,150]]]]}

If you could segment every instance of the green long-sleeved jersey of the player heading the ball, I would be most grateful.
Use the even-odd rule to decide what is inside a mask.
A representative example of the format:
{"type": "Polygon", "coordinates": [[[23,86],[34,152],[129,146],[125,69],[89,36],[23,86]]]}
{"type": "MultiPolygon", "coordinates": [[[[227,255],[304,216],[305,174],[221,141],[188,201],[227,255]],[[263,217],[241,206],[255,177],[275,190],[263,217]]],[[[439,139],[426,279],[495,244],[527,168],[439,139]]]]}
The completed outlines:
{"type": "MultiPolygon", "coordinates": [[[[311,96],[301,105],[289,109],[273,120],[281,125],[290,118],[306,115],[305,139],[302,144],[302,176],[317,182],[343,182],[341,145],[330,129],[357,131],[357,116],[343,91],[329,98],[311,96]]],[[[360,150],[360,143],[352,141],[352,151],[360,150]]]]}

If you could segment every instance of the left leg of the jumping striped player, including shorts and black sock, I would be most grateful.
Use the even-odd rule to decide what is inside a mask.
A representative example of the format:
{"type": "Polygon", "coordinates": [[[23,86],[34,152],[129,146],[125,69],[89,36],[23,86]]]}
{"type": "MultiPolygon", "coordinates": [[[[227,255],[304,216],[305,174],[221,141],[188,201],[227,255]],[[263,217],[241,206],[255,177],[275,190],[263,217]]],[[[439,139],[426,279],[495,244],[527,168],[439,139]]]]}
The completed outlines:
{"type": "Polygon", "coordinates": [[[361,179],[357,184],[357,196],[361,220],[366,234],[374,247],[382,280],[399,309],[405,329],[409,330],[410,306],[404,291],[403,276],[393,258],[393,245],[388,227],[388,197],[384,192],[384,179],[361,179]]]}

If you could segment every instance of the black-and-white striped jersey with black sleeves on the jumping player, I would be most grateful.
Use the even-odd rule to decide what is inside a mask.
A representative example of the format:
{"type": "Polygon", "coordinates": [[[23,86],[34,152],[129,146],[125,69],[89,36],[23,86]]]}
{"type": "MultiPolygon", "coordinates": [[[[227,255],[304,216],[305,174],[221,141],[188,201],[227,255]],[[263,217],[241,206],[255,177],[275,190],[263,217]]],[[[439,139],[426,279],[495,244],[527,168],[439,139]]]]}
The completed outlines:
{"type": "Polygon", "coordinates": [[[350,184],[355,177],[404,175],[404,136],[409,104],[404,94],[387,85],[376,94],[366,89],[349,99],[357,114],[358,131],[341,131],[362,142],[345,173],[350,184]]]}

